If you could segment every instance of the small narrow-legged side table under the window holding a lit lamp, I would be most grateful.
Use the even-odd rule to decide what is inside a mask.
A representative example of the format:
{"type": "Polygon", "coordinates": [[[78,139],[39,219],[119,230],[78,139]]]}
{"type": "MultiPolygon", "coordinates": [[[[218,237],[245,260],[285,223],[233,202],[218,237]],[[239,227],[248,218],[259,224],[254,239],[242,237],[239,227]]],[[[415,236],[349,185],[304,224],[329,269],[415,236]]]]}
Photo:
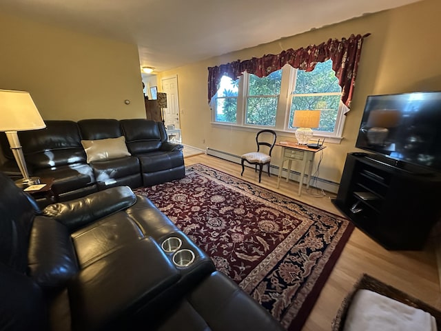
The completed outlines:
{"type": "Polygon", "coordinates": [[[305,174],[308,176],[306,188],[309,188],[309,179],[311,178],[312,165],[314,164],[314,156],[316,152],[323,150],[326,146],[320,146],[319,148],[309,148],[305,145],[298,145],[297,143],[290,141],[280,141],[276,143],[276,146],[282,148],[282,164],[278,170],[277,188],[280,185],[280,177],[282,177],[283,164],[288,161],[287,168],[287,182],[289,181],[289,171],[291,170],[292,161],[302,161],[302,172],[300,172],[300,181],[298,183],[298,195],[302,194],[303,180],[305,174]],[[306,172],[307,164],[309,163],[308,172],[306,172]]]}

